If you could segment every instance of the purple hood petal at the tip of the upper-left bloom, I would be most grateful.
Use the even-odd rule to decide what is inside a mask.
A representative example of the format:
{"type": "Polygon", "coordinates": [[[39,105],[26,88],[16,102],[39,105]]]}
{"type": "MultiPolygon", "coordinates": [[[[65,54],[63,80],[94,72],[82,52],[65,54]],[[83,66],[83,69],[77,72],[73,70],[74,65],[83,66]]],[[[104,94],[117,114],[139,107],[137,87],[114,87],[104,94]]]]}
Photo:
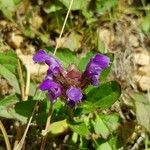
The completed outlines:
{"type": "Polygon", "coordinates": [[[49,59],[49,55],[44,50],[39,50],[34,56],[33,61],[38,62],[44,62],[45,60],[49,59]]]}

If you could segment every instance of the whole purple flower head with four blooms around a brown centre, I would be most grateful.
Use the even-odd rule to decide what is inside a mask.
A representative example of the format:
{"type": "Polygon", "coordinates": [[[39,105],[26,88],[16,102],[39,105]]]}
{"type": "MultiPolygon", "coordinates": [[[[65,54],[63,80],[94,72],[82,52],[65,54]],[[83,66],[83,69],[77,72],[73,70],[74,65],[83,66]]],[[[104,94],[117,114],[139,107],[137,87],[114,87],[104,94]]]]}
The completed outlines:
{"type": "Polygon", "coordinates": [[[45,62],[49,66],[39,88],[48,91],[47,96],[51,102],[54,103],[61,96],[70,107],[76,106],[84,99],[83,90],[89,84],[94,86],[99,84],[99,76],[110,62],[107,56],[97,54],[90,59],[82,73],[74,64],[70,64],[65,70],[57,59],[44,50],[39,50],[33,60],[35,63],[45,62]]]}

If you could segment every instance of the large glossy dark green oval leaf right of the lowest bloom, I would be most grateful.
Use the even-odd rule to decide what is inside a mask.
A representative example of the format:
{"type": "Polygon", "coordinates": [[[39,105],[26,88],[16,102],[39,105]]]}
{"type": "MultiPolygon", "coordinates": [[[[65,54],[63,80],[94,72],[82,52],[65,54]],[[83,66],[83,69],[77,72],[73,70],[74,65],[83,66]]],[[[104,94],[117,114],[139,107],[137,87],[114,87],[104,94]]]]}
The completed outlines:
{"type": "Polygon", "coordinates": [[[89,113],[97,108],[107,109],[120,97],[121,87],[116,81],[111,81],[93,88],[87,94],[86,102],[82,105],[83,112],[89,113]]]}

